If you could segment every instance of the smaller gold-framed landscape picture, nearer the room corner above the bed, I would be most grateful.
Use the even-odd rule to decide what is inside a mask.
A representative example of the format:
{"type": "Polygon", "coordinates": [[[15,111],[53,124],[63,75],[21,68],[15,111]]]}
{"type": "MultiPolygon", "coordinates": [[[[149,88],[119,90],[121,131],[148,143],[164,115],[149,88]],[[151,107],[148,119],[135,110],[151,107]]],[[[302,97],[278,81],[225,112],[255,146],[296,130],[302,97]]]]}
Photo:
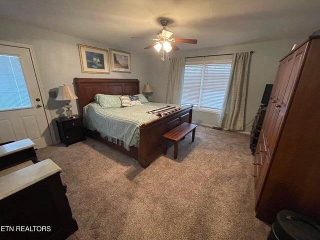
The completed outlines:
{"type": "Polygon", "coordinates": [[[130,52],[120,51],[110,48],[111,71],[131,72],[131,54],[130,52]]]}

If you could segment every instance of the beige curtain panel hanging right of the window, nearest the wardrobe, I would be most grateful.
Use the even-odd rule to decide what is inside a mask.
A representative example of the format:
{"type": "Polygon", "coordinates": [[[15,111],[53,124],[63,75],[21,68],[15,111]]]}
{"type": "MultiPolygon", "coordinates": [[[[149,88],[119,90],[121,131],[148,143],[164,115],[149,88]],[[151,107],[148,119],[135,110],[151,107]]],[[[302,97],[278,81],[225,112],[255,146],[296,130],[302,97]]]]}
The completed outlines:
{"type": "Polygon", "coordinates": [[[228,87],[217,124],[222,129],[244,129],[244,110],[250,55],[249,52],[233,54],[228,87]]]}

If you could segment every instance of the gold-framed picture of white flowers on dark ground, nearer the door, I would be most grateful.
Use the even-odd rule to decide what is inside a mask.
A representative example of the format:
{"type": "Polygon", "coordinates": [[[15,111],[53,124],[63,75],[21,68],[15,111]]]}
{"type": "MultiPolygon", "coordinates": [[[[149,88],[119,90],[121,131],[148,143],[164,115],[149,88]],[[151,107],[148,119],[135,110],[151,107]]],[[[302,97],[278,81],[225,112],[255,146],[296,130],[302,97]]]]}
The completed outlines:
{"type": "Polygon", "coordinates": [[[78,44],[82,72],[110,74],[108,50],[78,44]]]}

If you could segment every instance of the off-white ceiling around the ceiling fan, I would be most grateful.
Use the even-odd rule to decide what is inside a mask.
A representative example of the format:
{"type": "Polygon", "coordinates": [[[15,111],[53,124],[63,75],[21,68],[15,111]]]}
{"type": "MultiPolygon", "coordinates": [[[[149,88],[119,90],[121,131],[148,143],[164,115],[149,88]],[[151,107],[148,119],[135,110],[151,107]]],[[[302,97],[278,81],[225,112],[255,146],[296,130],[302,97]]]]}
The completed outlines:
{"type": "Polygon", "coordinates": [[[320,28],[320,0],[0,0],[0,16],[143,50],[161,29],[159,19],[171,20],[173,36],[196,38],[196,49],[307,36],[320,28]]]}

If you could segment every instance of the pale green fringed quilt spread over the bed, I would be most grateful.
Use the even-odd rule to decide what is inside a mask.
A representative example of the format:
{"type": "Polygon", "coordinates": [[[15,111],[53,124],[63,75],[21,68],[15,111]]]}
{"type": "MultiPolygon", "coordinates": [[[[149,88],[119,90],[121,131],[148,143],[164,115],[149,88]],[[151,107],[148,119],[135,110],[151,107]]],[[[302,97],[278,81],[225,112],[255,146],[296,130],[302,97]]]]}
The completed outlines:
{"type": "Polygon", "coordinates": [[[101,137],[113,143],[119,140],[129,150],[130,146],[139,146],[139,126],[158,119],[158,116],[148,114],[147,111],[165,105],[167,104],[148,102],[131,107],[101,108],[98,103],[92,102],[83,107],[83,120],[89,130],[97,130],[101,137]]]}

